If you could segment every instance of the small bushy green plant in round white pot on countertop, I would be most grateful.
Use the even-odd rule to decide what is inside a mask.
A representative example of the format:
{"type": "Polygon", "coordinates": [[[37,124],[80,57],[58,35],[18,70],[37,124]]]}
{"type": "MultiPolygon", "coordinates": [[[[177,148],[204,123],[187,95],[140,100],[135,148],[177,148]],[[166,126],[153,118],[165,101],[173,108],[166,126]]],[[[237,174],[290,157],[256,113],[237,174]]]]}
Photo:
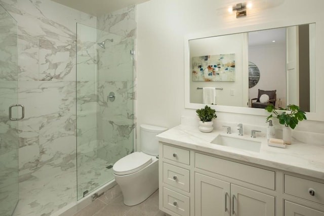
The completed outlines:
{"type": "Polygon", "coordinates": [[[217,118],[216,111],[206,105],[205,108],[196,110],[196,113],[200,119],[198,129],[205,133],[211,132],[214,129],[213,119],[217,118]]]}

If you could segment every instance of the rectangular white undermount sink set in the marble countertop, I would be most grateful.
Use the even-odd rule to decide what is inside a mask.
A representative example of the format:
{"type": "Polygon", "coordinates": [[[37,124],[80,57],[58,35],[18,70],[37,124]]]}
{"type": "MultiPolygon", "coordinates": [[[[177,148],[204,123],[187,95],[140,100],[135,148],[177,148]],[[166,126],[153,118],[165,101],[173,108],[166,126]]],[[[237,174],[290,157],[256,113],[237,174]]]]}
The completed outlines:
{"type": "Polygon", "coordinates": [[[211,143],[228,146],[236,149],[247,150],[251,152],[260,152],[261,141],[250,140],[240,137],[225,136],[219,134],[211,143]]]}

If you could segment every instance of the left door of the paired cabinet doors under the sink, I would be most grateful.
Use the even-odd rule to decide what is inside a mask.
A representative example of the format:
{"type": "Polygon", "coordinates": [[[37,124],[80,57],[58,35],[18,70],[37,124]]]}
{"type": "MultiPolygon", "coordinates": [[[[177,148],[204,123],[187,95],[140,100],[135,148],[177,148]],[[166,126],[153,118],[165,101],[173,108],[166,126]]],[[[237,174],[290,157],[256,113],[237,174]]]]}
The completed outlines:
{"type": "Polygon", "coordinates": [[[195,216],[230,215],[229,183],[195,173],[194,196],[195,216]]]}

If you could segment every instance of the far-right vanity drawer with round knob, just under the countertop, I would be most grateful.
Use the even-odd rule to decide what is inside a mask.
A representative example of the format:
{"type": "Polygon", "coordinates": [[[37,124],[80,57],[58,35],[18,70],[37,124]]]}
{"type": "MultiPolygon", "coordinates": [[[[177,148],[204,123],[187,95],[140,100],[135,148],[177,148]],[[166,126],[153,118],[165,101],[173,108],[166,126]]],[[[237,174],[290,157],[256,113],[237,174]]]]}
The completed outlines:
{"type": "Polygon", "coordinates": [[[285,174],[285,194],[324,204],[324,184],[309,179],[285,174]]]}

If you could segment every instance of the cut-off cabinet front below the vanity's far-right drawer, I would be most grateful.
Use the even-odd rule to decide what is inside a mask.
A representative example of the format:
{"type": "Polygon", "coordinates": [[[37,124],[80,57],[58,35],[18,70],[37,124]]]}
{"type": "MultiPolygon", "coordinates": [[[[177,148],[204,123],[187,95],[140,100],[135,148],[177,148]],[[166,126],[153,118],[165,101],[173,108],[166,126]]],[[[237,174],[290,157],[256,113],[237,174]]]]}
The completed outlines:
{"type": "Polygon", "coordinates": [[[324,212],[285,200],[285,216],[324,216],[324,212]]]}

